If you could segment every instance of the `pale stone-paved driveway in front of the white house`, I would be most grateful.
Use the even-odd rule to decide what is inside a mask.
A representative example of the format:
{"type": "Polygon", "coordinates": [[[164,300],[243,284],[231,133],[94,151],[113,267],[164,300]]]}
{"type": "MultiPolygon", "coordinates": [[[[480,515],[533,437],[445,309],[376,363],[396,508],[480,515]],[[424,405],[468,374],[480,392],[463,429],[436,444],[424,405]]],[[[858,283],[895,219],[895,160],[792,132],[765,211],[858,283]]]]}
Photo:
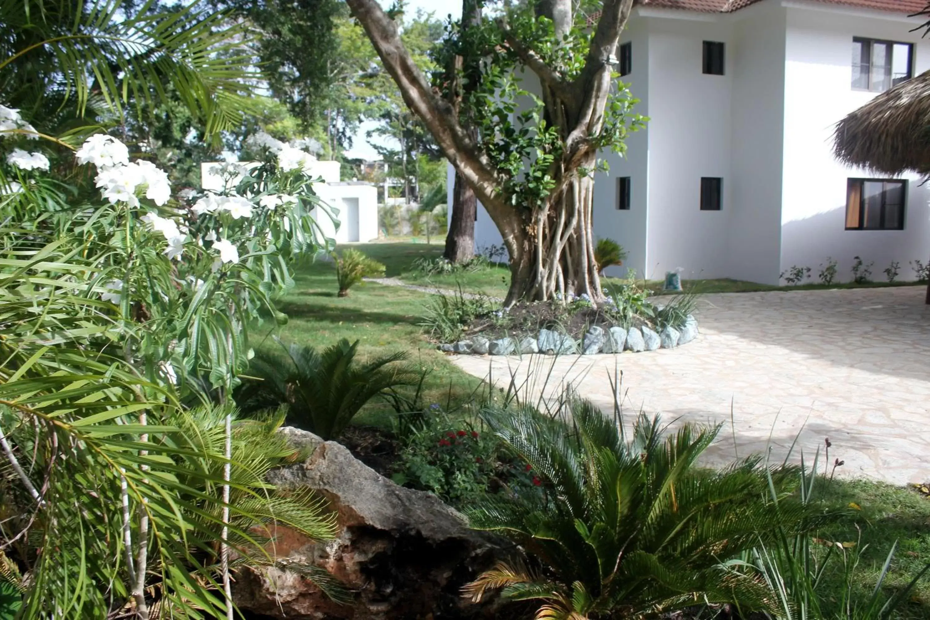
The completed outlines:
{"type": "MultiPolygon", "coordinates": [[[[837,475],[930,480],[930,307],[920,286],[701,296],[700,336],[680,349],[532,359],[457,356],[506,387],[533,368],[535,390],[574,383],[613,410],[608,373],[623,373],[625,412],[725,423],[708,462],[764,452],[795,437],[808,460],[824,438],[837,475]],[[734,424],[731,425],[731,403],[734,424]],[[771,440],[769,439],[771,435],[771,440]]],[[[796,448],[797,450],[797,448],[796,448]]],[[[795,456],[800,455],[799,452],[795,456]]]]}

